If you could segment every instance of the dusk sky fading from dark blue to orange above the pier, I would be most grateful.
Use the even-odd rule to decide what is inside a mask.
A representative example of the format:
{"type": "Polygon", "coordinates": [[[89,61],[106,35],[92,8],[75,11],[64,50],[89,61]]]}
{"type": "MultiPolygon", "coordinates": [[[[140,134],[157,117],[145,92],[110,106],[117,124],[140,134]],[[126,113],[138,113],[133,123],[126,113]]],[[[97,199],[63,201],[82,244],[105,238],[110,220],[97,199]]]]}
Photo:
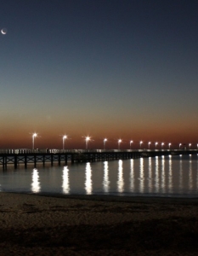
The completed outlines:
{"type": "Polygon", "coordinates": [[[198,143],[197,0],[6,0],[0,148],[198,143]]]}

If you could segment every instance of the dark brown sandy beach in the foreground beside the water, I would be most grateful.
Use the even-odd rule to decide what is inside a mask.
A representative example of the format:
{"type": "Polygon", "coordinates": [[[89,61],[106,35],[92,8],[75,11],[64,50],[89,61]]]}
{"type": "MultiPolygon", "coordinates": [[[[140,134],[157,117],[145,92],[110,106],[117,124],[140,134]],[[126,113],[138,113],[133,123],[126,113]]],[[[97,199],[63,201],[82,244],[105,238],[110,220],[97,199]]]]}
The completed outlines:
{"type": "Polygon", "coordinates": [[[0,256],[198,255],[198,199],[0,198],[0,256]]]}

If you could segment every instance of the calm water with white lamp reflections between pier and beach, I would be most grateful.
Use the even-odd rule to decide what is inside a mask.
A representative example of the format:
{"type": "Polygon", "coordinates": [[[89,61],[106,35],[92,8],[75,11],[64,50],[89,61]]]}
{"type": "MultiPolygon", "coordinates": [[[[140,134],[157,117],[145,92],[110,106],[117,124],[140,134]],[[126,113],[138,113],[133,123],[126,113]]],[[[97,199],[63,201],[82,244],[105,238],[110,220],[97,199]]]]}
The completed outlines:
{"type": "Polygon", "coordinates": [[[0,169],[0,191],[197,197],[198,156],[0,169]]]}

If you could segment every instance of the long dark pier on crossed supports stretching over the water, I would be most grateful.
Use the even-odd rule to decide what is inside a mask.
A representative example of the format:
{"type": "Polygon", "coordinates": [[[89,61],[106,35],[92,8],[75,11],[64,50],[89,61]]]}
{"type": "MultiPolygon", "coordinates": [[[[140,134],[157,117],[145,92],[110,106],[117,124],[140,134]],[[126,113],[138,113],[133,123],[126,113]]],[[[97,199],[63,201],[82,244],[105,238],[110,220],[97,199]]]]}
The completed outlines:
{"type": "Polygon", "coordinates": [[[0,149],[0,166],[6,169],[7,166],[13,165],[16,169],[19,165],[28,164],[37,166],[41,163],[43,166],[50,163],[71,163],[93,162],[101,160],[127,160],[141,157],[155,157],[161,155],[179,155],[179,154],[198,154],[197,149],[0,149]]]}

